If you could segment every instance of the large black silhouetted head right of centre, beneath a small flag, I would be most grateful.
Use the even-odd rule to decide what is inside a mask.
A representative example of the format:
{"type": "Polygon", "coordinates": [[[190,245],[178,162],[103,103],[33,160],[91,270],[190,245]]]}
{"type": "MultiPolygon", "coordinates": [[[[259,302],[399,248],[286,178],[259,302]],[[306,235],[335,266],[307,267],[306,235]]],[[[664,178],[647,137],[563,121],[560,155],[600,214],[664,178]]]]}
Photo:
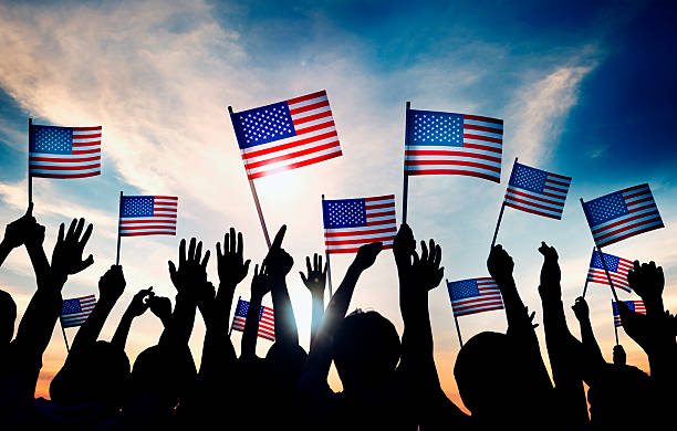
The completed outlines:
{"type": "Polygon", "coordinates": [[[464,404],[473,417],[491,420],[515,414],[533,401],[530,370],[506,334],[485,332],[460,349],[454,376],[464,404]]]}

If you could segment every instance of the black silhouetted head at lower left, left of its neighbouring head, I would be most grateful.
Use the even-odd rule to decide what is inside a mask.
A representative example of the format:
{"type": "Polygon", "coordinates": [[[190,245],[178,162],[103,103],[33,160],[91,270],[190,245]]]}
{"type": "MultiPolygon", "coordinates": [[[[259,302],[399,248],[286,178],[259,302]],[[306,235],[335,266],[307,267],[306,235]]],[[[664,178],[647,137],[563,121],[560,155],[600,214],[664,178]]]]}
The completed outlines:
{"type": "Polygon", "coordinates": [[[129,359],[108,341],[96,341],[66,361],[50,385],[52,400],[64,406],[96,403],[122,407],[129,378],[129,359]]]}

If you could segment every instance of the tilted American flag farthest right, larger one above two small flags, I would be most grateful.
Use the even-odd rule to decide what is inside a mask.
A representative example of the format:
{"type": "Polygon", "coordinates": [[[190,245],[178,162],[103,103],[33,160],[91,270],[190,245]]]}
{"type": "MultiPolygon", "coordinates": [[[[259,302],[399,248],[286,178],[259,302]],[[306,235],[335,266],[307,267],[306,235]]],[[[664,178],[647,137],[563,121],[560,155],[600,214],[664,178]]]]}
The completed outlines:
{"type": "Polygon", "coordinates": [[[598,246],[664,227],[646,183],[583,202],[583,210],[598,246]]]}

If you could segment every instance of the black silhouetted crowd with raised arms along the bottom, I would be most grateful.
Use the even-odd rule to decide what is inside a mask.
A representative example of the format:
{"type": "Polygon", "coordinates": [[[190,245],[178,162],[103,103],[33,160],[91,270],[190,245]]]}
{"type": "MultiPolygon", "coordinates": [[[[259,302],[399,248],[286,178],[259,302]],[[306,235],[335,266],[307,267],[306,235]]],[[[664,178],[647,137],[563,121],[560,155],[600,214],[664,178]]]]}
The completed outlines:
{"type": "MultiPolygon", "coordinates": [[[[61,224],[51,260],[45,229],[28,212],[7,225],[0,265],[25,246],[37,290],[14,335],[17,305],[0,291],[0,427],[3,430],[633,430],[666,428],[675,407],[677,319],[664,308],[664,274],[654,262],[628,273],[646,314],[618,304],[623,328],[648,356],[650,374],[626,364],[617,345],[607,364],[595,340],[589,307],[573,304],[580,339],[564,315],[558,252],[542,243],[538,292],[551,375],[541,355],[534,312],[524,306],[513,278],[514,263],[501,245],[487,260],[504,303],[508,328],[483,332],[460,349],[454,376],[465,413],[447,398],[434,360],[428,293],[444,276],[441,248],[417,242],[403,224],[393,253],[399,280],[402,336],[376,311],[350,312],[363,272],[383,245],[362,246],[329,304],[326,264],[306,257],[301,278],[312,301],[310,351],[299,345],[287,288],[293,266],[283,249],[282,227],[268,255],[253,269],[241,355],[229,336],[236,286],[250,271],[242,234],[230,229],[216,245],[218,286],[207,277],[210,250],[195,238],[180,241],[168,271],[174,305],[153,288],[136,293],[110,341],[101,330],[126,288],[123,267],[113,265],[98,282],[98,302],[77,330],[63,367],[50,385],[50,400],[35,398],[42,356],[62,309],[69,277],[93,262],[85,252],[92,224],[61,224]],[[86,257],[84,257],[87,255],[86,257]],[[259,311],[271,294],[275,341],[264,358],[256,354],[259,311]],[[125,344],[134,318],[150,311],[163,324],[157,344],[134,364],[125,344]],[[206,333],[199,369],[188,348],[197,312],[206,333]],[[335,365],[343,391],[327,383],[335,365]],[[587,391],[585,388],[589,388],[587,391]]],[[[530,288],[529,286],[522,288],[530,288]]]]}

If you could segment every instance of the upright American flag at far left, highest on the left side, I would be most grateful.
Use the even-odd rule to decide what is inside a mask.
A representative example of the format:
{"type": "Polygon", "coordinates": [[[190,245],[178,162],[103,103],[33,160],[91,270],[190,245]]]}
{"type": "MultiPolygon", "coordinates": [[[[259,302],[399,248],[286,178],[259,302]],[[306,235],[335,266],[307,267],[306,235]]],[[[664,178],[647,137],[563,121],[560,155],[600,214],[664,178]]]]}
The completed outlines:
{"type": "Polygon", "coordinates": [[[31,126],[29,175],[83,178],[101,175],[101,126],[31,126]]]}

